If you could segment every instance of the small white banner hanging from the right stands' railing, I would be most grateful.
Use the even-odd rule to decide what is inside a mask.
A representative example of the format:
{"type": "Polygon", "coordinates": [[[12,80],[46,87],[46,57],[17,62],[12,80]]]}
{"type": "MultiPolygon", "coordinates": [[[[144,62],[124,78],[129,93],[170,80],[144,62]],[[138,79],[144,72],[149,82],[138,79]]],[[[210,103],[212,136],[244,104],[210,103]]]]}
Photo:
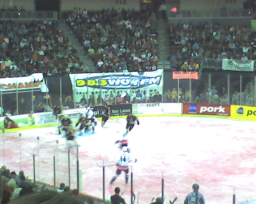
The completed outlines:
{"type": "Polygon", "coordinates": [[[247,60],[245,62],[241,60],[222,60],[222,70],[253,72],[254,60],[247,60]]]}

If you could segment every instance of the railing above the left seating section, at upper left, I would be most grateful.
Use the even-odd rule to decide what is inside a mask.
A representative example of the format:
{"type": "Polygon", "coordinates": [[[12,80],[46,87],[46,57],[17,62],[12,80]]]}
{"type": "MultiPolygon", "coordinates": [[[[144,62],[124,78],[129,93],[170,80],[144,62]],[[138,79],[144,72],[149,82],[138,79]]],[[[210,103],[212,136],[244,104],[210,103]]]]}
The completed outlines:
{"type": "Polygon", "coordinates": [[[0,11],[0,19],[58,19],[57,11],[0,11]]]}

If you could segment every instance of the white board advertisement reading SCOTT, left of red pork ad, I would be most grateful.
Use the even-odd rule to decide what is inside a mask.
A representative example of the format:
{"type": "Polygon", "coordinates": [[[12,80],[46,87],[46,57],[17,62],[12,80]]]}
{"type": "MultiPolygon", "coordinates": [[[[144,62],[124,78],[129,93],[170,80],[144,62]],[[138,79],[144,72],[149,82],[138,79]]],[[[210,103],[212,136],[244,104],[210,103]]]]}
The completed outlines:
{"type": "Polygon", "coordinates": [[[137,103],[132,104],[135,115],[180,115],[182,103],[137,103]]]}

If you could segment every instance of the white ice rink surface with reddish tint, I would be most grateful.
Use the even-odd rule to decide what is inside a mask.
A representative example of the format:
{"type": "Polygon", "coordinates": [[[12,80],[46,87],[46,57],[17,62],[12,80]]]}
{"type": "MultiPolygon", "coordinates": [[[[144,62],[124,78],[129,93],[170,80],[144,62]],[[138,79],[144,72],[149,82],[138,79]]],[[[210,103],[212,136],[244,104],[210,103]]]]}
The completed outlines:
{"type": "MultiPolygon", "coordinates": [[[[102,198],[102,165],[115,164],[120,156],[114,144],[125,131],[125,119],[109,120],[95,134],[77,137],[82,188],[86,194],[102,198]]],[[[53,184],[53,156],[57,185],[68,185],[68,146],[55,127],[0,134],[1,164],[18,172],[25,170],[33,179],[53,184]],[[19,137],[21,133],[21,137],[19,137]],[[39,140],[37,139],[39,137],[39,140]],[[58,143],[56,141],[59,141],[58,143]]],[[[165,203],[185,196],[198,183],[207,204],[229,204],[235,192],[236,203],[256,203],[256,126],[255,122],[217,118],[154,117],[140,118],[140,125],[129,134],[129,148],[137,163],[132,164],[135,203],[148,204],[161,193],[164,178],[165,203]]],[[[76,150],[71,149],[71,188],[76,188],[76,150]]],[[[130,184],[122,174],[109,187],[115,166],[106,167],[106,198],[116,186],[130,203],[130,184]]]]}

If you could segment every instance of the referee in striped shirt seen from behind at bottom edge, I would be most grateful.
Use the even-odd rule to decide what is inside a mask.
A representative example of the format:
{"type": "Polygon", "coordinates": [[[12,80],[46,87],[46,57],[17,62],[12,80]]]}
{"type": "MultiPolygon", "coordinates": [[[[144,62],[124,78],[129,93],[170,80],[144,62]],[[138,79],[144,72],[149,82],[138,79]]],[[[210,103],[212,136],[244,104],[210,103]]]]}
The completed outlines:
{"type": "Polygon", "coordinates": [[[194,183],[192,185],[193,192],[189,193],[185,200],[184,204],[205,204],[203,194],[198,192],[199,185],[194,183]]]}

